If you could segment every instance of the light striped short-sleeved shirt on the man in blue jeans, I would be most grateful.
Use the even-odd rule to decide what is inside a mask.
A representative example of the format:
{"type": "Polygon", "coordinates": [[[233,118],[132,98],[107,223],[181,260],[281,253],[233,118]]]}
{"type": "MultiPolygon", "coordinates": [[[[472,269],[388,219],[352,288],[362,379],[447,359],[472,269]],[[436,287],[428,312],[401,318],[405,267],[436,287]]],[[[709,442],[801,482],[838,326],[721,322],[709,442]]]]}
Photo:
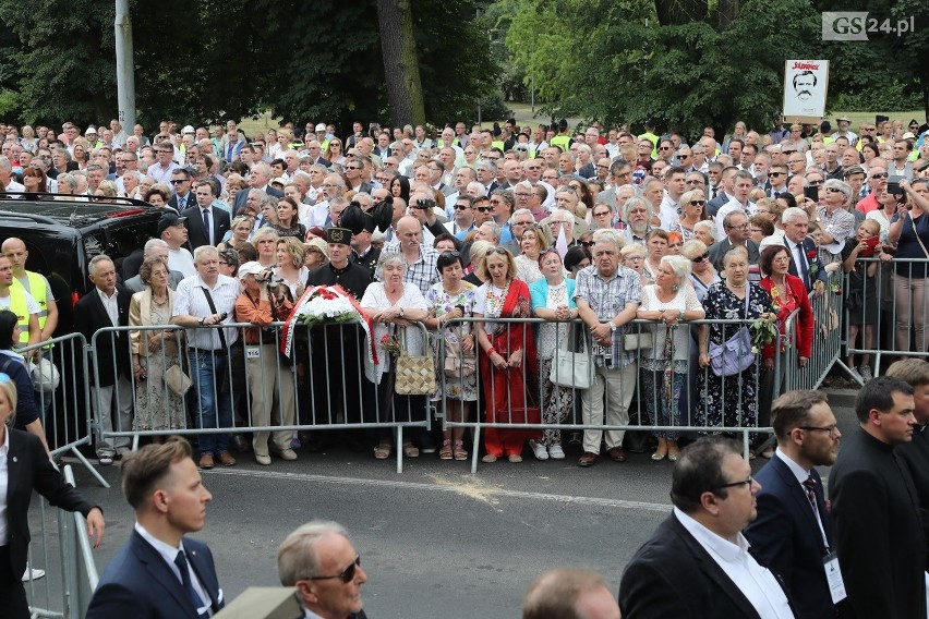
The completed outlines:
{"type": "MultiPolygon", "coordinates": [[[[236,300],[239,298],[239,282],[225,275],[217,276],[216,286],[209,288],[200,277],[194,275],[185,277],[178,284],[174,292],[174,316],[195,316],[205,318],[214,314],[206,301],[205,291],[209,290],[213,303],[216,305],[217,314],[227,314],[225,324],[236,320],[236,300]]],[[[219,329],[212,327],[205,329],[188,329],[188,345],[202,350],[218,350],[222,348],[219,341],[219,329]]],[[[234,328],[222,329],[226,335],[226,345],[239,339],[239,331],[234,328]]]]}

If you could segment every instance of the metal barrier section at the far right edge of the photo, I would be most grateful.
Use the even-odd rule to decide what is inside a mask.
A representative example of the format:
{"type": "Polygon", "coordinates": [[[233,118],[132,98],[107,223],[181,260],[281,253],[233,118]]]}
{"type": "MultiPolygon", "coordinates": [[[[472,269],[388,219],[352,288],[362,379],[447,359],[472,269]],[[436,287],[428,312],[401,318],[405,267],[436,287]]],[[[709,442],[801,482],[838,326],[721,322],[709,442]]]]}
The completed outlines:
{"type": "Polygon", "coordinates": [[[929,259],[871,257],[856,265],[842,284],[843,367],[861,383],[850,371],[867,366],[878,376],[885,356],[929,359],[929,259]]]}

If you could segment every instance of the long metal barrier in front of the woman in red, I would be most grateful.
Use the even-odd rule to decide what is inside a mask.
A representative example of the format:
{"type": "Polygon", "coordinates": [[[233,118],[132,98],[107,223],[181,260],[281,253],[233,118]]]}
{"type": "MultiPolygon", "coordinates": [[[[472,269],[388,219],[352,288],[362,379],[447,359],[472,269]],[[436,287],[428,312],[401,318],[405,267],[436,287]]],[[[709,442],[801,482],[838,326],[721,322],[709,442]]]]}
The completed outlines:
{"type": "MultiPolygon", "coordinates": [[[[720,325],[723,327],[723,339],[725,340],[735,335],[738,329],[751,324],[752,321],[753,320],[692,320],[676,328],[691,331],[699,329],[701,326],[709,328],[710,325],[720,325]]],[[[456,325],[472,325],[474,323],[494,325],[522,324],[531,325],[534,328],[557,324],[556,321],[548,321],[540,318],[461,318],[457,320],[449,320],[446,326],[455,327],[456,325]]],[[[577,325],[578,328],[581,328],[584,331],[587,330],[587,327],[583,326],[580,320],[575,320],[572,324],[577,325]]],[[[648,333],[652,328],[666,328],[664,325],[647,320],[634,320],[631,325],[634,333],[648,333]]],[[[522,350],[527,350],[526,343],[528,338],[533,337],[526,335],[527,331],[528,330],[524,330],[522,336],[522,350]]],[[[557,363],[559,354],[558,351],[562,351],[565,345],[565,342],[559,338],[560,336],[556,337],[553,363],[557,363]]],[[[437,347],[437,359],[439,360],[439,363],[437,365],[441,368],[443,367],[442,362],[445,359],[446,341],[445,338],[437,338],[437,340],[439,342],[439,345],[437,347]]],[[[534,430],[536,434],[540,430],[595,430],[612,433],[631,430],[664,433],[669,435],[691,434],[698,432],[739,433],[743,436],[745,456],[748,458],[749,434],[770,434],[772,432],[770,427],[767,427],[767,422],[764,425],[759,425],[758,406],[762,399],[771,397],[769,396],[771,391],[764,391],[762,388],[760,355],[751,366],[744,371],[744,373],[736,376],[720,377],[713,374],[710,368],[700,368],[697,365],[697,340],[693,337],[687,337],[686,342],[686,354],[677,355],[680,363],[676,366],[665,365],[664,351],[643,353],[640,349],[635,353],[635,363],[628,366],[625,373],[620,373],[622,376],[617,378],[619,380],[618,398],[620,400],[618,405],[622,409],[626,403],[628,403],[628,406],[626,406],[628,413],[627,423],[610,423],[606,420],[605,414],[603,415],[604,418],[600,423],[584,421],[582,415],[580,418],[578,417],[577,406],[574,404],[571,405],[571,411],[564,415],[564,421],[552,422],[552,417],[550,416],[550,423],[544,423],[542,421],[533,423],[532,420],[528,418],[528,412],[524,409],[539,408],[542,409],[539,411],[540,415],[544,415],[543,411],[545,406],[553,404],[557,405],[558,398],[560,396],[556,396],[554,400],[551,397],[547,399],[542,398],[540,386],[548,380],[548,376],[540,374],[539,368],[535,368],[535,374],[532,374],[532,371],[528,371],[524,364],[521,366],[519,381],[523,385],[531,386],[530,392],[531,396],[535,398],[535,402],[539,403],[538,406],[522,405],[517,406],[516,410],[510,406],[505,412],[503,418],[495,416],[493,420],[486,420],[482,414],[472,412],[470,420],[451,421],[447,414],[448,404],[453,402],[456,403],[456,406],[463,408],[466,400],[463,396],[451,398],[446,397],[442,398],[442,402],[438,403],[438,416],[443,418],[444,429],[461,427],[470,428],[473,432],[472,450],[470,454],[472,472],[475,472],[478,466],[478,450],[481,432],[486,432],[487,428],[504,430],[526,429],[534,430]],[[648,366],[648,369],[642,369],[642,360],[647,360],[644,365],[648,366]],[[671,374],[673,375],[669,376],[671,380],[668,381],[663,380],[666,367],[669,367],[671,374]],[[696,380],[693,380],[693,378],[696,378],[696,380]],[[657,385],[659,380],[662,380],[661,386],[657,385]],[[679,393],[676,399],[674,396],[667,398],[663,392],[668,388],[668,384],[671,384],[671,389],[673,389],[674,392],[679,393]],[[732,396],[732,400],[727,397],[729,395],[732,396]],[[669,404],[664,404],[665,410],[671,410],[671,414],[665,415],[667,417],[667,423],[659,423],[657,420],[657,415],[662,412],[662,400],[671,402],[669,404]],[[675,405],[677,406],[677,420],[679,421],[675,418],[673,411],[675,405]],[[753,409],[753,415],[746,414],[746,408],[753,409]],[[750,416],[755,416],[753,422],[749,421],[750,416]]],[[[748,354],[750,351],[744,352],[748,354]]],[[[485,372],[482,372],[480,357],[481,355],[479,355],[479,363],[474,377],[478,389],[476,401],[496,401],[498,388],[507,389],[506,400],[512,401],[509,386],[499,385],[497,381],[492,383],[490,387],[485,386],[486,376],[491,376],[491,374],[487,373],[485,376],[485,372]]],[[[781,363],[781,360],[779,357],[775,357],[775,375],[780,372],[779,364],[781,363]]],[[[463,359],[459,361],[459,365],[461,363],[463,363],[463,359]]],[[[540,366],[542,364],[540,364],[540,366]]],[[[441,387],[441,393],[446,393],[451,383],[453,381],[445,376],[445,372],[439,372],[438,384],[441,387]]],[[[570,399],[576,402],[583,399],[587,390],[567,388],[567,391],[569,392],[570,399]]],[[[458,390],[457,392],[460,393],[461,391],[458,390]]],[[[604,411],[606,411],[610,406],[614,405],[614,403],[610,401],[608,393],[604,397],[606,397],[606,402],[604,404],[604,411]]],[[[518,403],[521,402],[521,400],[522,396],[518,396],[516,399],[518,403]]],[[[593,406],[593,404],[594,403],[592,401],[589,403],[590,406],[593,406]]],[[[496,408],[494,408],[494,410],[496,410],[496,408]]],[[[532,414],[534,415],[534,412],[532,414]]],[[[614,439],[615,438],[616,435],[614,435],[614,439]]],[[[586,450],[588,449],[586,448],[586,450]]],[[[590,450],[599,453],[600,445],[598,444],[595,448],[591,446],[590,450]]]]}

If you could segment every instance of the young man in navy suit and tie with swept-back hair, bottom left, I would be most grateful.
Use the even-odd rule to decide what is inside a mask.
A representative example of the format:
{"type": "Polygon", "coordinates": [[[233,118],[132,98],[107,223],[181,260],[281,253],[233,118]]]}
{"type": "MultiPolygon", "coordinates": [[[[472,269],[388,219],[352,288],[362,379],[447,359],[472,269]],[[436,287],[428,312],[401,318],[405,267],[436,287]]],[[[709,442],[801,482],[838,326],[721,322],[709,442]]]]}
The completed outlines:
{"type": "Polygon", "coordinates": [[[87,619],[196,619],[225,606],[209,547],[184,536],[203,529],[213,500],[192,456],[173,436],[123,460],[135,526],[100,576],[87,619]]]}

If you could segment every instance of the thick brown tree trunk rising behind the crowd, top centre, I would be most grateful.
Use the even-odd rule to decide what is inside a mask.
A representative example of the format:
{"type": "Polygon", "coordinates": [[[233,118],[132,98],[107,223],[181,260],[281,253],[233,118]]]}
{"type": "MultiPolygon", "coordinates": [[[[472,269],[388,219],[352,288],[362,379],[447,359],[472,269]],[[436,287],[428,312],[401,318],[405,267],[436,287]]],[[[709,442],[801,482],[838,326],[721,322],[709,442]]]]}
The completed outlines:
{"type": "Polygon", "coordinates": [[[395,126],[424,124],[425,105],[410,0],[377,0],[377,21],[390,122],[395,126]]]}

